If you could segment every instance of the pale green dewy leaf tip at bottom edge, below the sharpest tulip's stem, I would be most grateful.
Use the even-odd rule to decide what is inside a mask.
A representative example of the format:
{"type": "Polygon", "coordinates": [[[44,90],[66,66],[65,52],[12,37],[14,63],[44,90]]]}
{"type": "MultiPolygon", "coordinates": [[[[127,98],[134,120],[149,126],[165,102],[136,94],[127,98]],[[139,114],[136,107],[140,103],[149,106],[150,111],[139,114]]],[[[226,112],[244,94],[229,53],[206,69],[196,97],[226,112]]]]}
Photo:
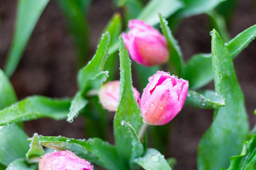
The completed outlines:
{"type": "Polygon", "coordinates": [[[166,159],[164,159],[164,155],[162,155],[158,150],[155,150],[154,148],[148,148],[144,156],[135,159],[134,162],[141,165],[141,167],[146,170],[172,169],[170,165],[167,163],[166,159]]]}

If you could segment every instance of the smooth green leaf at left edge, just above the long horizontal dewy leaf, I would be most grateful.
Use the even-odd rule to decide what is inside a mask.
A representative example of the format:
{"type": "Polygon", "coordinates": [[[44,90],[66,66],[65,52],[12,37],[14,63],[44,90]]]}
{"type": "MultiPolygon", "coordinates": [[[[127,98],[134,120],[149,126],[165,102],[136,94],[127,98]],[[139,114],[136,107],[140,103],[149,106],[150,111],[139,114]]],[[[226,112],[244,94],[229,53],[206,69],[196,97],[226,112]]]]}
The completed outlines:
{"type": "Polygon", "coordinates": [[[0,109],[3,109],[15,103],[18,99],[13,86],[11,86],[9,79],[1,69],[0,80],[0,109]]]}

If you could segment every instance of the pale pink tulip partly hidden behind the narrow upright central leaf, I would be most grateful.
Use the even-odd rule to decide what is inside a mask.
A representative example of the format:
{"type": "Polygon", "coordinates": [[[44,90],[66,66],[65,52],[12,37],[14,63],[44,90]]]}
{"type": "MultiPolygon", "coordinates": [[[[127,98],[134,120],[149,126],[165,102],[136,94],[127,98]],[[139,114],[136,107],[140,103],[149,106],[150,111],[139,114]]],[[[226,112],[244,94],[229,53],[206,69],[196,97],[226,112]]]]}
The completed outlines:
{"type": "MultiPolygon", "coordinates": [[[[109,111],[117,111],[118,107],[118,100],[119,100],[119,90],[120,90],[120,82],[119,80],[108,82],[104,84],[99,92],[99,98],[102,106],[109,111]]],[[[136,88],[133,88],[134,91],[134,97],[137,103],[139,104],[141,99],[139,96],[139,92],[136,90],[136,88]]]]}

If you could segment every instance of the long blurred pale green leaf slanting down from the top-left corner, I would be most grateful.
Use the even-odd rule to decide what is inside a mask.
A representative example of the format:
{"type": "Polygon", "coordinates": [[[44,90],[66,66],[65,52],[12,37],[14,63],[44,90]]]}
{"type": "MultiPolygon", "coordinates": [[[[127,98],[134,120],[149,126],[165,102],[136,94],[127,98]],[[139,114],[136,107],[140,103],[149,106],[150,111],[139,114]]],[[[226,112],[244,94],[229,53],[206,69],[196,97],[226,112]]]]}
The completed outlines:
{"type": "Polygon", "coordinates": [[[49,0],[19,0],[18,13],[16,15],[16,26],[13,37],[13,45],[11,46],[7,62],[5,65],[5,73],[11,76],[22,57],[22,53],[36,22],[46,8],[49,0]]]}

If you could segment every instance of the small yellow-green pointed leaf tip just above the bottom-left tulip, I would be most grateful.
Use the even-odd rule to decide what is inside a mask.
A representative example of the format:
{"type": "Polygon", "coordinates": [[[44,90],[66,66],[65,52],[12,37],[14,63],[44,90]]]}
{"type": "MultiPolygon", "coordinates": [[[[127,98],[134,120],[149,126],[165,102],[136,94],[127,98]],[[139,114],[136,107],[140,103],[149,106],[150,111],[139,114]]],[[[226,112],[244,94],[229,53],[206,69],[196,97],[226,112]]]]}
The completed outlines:
{"type": "Polygon", "coordinates": [[[26,157],[28,160],[30,160],[30,162],[32,159],[39,159],[40,161],[40,156],[43,156],[43,155],[44,155],[43,147],[39,143],[38,134],[35,133],[30,144],[30,150],[28,150],[26,157]]]}

